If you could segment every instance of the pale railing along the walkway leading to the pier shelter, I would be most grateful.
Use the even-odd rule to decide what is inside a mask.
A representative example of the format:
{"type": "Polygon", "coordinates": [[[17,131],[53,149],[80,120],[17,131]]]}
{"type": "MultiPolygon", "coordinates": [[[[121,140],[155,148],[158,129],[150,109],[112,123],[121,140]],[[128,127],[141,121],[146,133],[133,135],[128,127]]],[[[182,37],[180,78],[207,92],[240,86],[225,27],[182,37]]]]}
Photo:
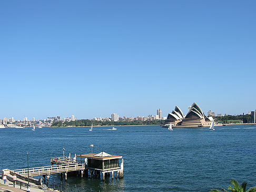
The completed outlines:
{"type": "Polygon", "coordinates": [[[84,170],[84,169],[85,169],[85,164],[73,163],[73,164],[62,164],[62,165],[53,165],[53,166],[45,166],[45,167],[33,167],[33,168],[29,168],[28,170],[26,168],[15,169],[12,171],[25,177],[27,176],[27,171],[28,171],[29,177],[34,177],[34,176],[40,176],[40,175],[51,175],[56,173],[64,173],[68,171],[84,170]]]}

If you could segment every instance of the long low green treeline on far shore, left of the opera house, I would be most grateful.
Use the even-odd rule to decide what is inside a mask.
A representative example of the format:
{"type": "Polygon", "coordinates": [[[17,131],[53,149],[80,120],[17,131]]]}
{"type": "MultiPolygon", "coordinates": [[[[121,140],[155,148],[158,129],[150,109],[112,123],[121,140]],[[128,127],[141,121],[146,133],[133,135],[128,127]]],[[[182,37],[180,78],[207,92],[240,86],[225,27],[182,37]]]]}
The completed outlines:
{"type": "Polygon", "coordinates": [[[120,121],[120,122],[101,122],[99,120],[79,119],[73,122],[54,122],[52,127],[78,127],[78,126],[117,126],[117,125],[163,125],[164,120],[134,120],[134,121],[120,121]]]}

